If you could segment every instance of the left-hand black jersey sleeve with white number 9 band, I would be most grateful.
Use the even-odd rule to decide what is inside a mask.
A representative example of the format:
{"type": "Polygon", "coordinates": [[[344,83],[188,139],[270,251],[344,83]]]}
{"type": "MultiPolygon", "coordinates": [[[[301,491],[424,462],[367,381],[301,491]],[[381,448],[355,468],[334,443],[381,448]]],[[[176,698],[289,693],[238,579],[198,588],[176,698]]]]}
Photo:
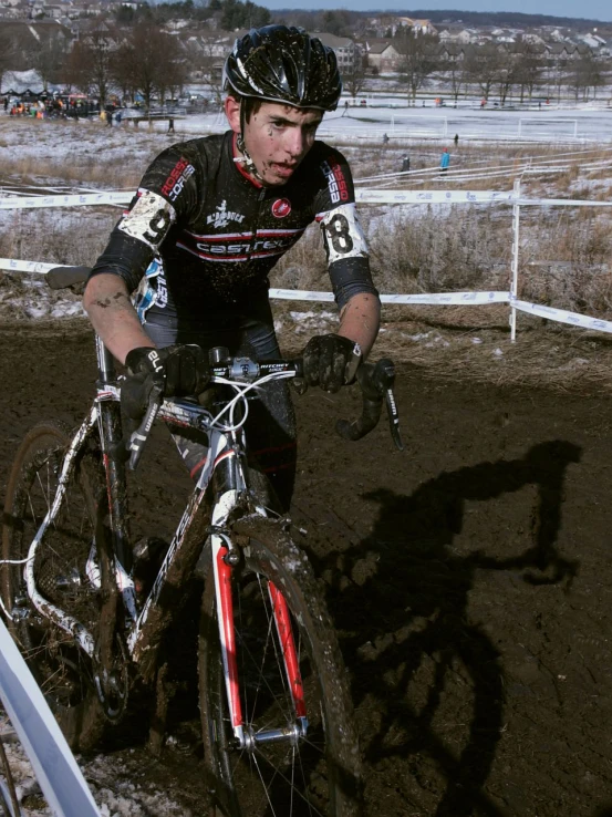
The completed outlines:
{"type": "Polygon", "coordinates": [[[111,272],[133,292],[173,225],[189,219],[197,206],[196,167],[181,147],[174,145],[149,165],[90,278],[111,272]]]}

